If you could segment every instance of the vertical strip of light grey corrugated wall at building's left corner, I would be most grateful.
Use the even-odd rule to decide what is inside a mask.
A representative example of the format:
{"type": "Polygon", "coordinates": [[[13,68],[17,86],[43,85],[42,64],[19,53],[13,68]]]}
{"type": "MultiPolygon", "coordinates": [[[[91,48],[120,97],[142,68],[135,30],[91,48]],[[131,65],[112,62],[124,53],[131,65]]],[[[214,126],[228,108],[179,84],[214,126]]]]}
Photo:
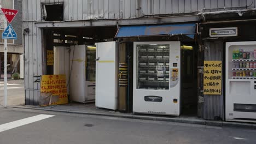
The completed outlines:
{"type": "Polygon", "coordinates": [[[40,1],[22,1],[24,34],[25,94],[26,105],[38,105],[40,83],[34,82],[35,75],[42,75],[42,32],[34,26],[34,21],[41,20],[40,1]]]}

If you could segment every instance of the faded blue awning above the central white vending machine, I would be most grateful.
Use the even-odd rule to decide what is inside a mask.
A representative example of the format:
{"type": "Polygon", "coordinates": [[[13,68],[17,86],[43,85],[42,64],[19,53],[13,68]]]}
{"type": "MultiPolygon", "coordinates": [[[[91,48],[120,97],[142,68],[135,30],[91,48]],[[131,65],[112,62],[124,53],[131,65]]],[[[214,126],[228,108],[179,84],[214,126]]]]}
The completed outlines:
{"type": "Polygon", "coordinates": [[[150,26],[121,26],[115,38],[153,36],[153,35],[187,35],[194,39],[195,23],[150,26]]]}

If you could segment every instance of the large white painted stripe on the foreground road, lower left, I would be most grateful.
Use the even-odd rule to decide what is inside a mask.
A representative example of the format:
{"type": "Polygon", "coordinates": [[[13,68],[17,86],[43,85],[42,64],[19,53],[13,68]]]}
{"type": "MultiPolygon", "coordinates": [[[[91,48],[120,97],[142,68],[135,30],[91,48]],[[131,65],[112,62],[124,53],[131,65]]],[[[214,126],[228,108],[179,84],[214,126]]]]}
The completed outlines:
{"type": "Polygon", "coordinates": [[[30,124],[30,123],[33,123],[33,122],[41,121],[43,119],[54,117],[54,116],[55,115],[37,115],[37,116],[33,116],[33,117],[20,119],[18,121],[13,121],[13,122],[1,124],[0,125],[0,133],[2,131],[5,131],[5,130],[17,128],[17,127],[20,127],[22,125],[26,125],[26,124],[30,124]]]}

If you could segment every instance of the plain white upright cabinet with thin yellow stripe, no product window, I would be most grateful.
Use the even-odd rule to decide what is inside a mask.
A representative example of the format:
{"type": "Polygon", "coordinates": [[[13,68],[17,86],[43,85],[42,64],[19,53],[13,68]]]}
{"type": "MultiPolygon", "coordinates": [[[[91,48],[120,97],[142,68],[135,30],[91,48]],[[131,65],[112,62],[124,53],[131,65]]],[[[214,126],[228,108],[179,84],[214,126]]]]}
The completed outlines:
{"type": "Polygon", "coordinates": [[[118,43],[96,43],[96,107],[118,109],[118,43]]]}

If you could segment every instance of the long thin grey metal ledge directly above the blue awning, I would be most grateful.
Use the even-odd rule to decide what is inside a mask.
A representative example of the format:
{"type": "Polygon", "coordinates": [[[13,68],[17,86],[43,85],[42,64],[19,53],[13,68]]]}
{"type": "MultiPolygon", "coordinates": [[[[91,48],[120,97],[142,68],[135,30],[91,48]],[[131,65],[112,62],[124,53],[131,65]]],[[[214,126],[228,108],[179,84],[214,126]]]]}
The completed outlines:
{"type": "Polygon", "coordinates": [[[75,27],[104,27],[104,26],[125,26],[125,25],[159,25],[178,22],[198,22],[199,15],[152,17],[136,19],[113,19],[113,20],[81,20],[81,21],[44,21],[35,22],[38,28],[75,28],[75,27]]]}

